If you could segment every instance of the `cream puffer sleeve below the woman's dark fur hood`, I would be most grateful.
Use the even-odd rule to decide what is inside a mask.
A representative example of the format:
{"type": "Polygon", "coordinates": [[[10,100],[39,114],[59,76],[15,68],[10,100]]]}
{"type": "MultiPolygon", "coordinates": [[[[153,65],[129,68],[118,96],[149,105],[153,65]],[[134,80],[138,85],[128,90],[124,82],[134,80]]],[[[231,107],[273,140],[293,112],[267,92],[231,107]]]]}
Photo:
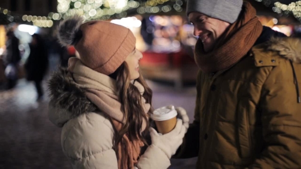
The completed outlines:
{"type": "Polygon", "coordinates": [[[113,131],[106,121],[89,119],[70,128],[62,133],[62,147],[73,168],[118,168],[113,131]]]}

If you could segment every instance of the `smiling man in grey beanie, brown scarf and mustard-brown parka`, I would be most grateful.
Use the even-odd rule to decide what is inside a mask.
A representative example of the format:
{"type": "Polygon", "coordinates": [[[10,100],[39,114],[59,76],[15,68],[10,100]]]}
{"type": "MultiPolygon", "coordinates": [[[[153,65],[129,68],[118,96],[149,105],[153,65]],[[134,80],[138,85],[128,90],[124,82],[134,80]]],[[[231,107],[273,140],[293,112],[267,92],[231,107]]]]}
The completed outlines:
{"type": "Polygon", "coordinates": [[[196,168],[301,168],[301,41],[242,0],[188,0],[197,98],[176,158],[196,168]]]}

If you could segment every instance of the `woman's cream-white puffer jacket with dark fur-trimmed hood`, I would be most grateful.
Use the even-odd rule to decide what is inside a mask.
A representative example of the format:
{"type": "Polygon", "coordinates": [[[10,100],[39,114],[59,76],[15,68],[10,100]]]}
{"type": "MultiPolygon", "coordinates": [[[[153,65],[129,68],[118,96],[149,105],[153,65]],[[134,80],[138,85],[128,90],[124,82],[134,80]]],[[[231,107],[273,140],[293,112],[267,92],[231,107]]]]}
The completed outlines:
{"type": "MultiPolygon", "coordinates": [[[[118,168],[113,149],[114,129],[103,112],[61,70],[50,81],[49,120],[62,127],[61,145],[73,168],[118,168]],[[72,89],[72,90],[70,90],[72,89]]],[[[170,160],[151,145],[139,158],[137,168],[168,168],[170,160]]]]}

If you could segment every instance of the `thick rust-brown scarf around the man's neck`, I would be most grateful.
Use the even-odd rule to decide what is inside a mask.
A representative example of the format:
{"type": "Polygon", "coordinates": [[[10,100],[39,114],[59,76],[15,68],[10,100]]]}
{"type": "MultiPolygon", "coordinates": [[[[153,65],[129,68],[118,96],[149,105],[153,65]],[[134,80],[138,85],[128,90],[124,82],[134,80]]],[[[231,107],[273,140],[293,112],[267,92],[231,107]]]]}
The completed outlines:
{"type": "Polygon", "coordinates": [[[197,66],[207,73],[231,67],[252,48],[262,29],[255,8],[244,2],[239,18],[218,39],[211,52],[205,53],[202,41],[197,40],[194,55],[197,66]]]}

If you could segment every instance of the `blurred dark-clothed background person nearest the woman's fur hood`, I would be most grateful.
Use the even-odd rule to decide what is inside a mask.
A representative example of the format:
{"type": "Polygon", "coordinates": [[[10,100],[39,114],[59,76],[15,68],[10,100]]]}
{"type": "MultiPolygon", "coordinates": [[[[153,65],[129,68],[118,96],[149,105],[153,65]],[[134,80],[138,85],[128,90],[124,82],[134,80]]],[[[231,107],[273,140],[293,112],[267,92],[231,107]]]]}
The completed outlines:
{"type": "Polygon", "coordinates": [[[24,68],[28,81],[34,81],[37,90],[37,100],[43,97],[42,80],[48,69],[48,52],[45,42],[38,34],[32,35],[32,41],[29,44],[30,54],[24,68]]]}

